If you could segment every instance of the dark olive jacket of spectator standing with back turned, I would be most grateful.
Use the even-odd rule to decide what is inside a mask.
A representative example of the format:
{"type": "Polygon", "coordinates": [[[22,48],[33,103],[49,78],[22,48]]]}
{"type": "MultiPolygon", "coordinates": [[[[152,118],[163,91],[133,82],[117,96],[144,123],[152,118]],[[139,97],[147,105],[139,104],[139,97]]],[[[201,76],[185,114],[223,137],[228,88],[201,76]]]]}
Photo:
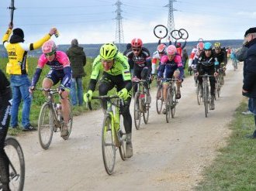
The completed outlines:
{"type": "Polygon", "coordinates": [[[85,64],[86,64],[86,56],[83,50],[84,48],[80,46],[72,45],[67,50],[67,56],[71,62],[71,69],[72,69],[72,77],[85,77],[85,64]]]}

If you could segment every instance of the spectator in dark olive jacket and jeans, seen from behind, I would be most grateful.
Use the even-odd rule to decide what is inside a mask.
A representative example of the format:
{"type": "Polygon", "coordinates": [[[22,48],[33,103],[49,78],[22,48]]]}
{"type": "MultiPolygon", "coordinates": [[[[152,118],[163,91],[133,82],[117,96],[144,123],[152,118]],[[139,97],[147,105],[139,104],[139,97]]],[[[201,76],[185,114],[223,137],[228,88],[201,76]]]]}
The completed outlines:
{"type": "Polygon", "coordinates": [[[83,48],[78,46],[78,39],[72,39],[67,56],[71,61],[72,69],[71,104],[81,106],[83,104],[82,77],[85,77],[86,56],[83,48]]]}

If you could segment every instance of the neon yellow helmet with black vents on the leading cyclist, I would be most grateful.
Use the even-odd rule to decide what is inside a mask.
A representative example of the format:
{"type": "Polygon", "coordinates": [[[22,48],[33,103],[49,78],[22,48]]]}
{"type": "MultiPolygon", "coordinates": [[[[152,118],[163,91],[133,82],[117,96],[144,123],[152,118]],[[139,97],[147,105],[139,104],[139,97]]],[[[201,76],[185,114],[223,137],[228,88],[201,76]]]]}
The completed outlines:
{"type": "Polygon", "coordinates": [[[113,43],[106,43],[102,45],[99,50],[99,55],[102,60],[113,60],[118,52],[116,45],[113,43]]]}

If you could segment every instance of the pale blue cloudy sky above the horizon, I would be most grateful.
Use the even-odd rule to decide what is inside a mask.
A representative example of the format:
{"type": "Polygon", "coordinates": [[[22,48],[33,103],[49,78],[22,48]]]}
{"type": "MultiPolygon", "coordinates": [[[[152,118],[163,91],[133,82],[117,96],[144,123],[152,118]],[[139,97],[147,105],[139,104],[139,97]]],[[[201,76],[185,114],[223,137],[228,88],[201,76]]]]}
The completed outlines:
{"type": "MultiPolygon", "coordinates": [[[[1,0],[0,32],[8,28],[11,0],[1,0]]],[[[22,28],[27,43],[33,43],[50,28],[60,32],[57,44],[107,43],[116,39],[115,0],[16,0],[14,27],[22,28]]],[[[121,0],[124,43],[137,37],[156,43],[154,26],[168,23],[168,0],[121,0]]],[[[242,39],[256,24],[255,0],[180,0],[174,2],[175,29],[186,29],[189,41],[242,39]]]]}

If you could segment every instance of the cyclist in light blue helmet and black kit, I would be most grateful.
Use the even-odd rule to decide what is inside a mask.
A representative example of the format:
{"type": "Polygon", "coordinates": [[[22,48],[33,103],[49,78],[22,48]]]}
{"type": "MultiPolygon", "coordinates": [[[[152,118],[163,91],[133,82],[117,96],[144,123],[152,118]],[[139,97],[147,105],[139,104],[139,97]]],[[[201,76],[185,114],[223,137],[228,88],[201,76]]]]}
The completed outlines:
{"type": "Polygon", "coordinates": [[[214,110],[214,98],[215,98],[215,77],[218,75],[219,62],[213,52],[212,43],[205,43],[203,46],[204,51],[200,54],[199,60],[196,67],[195,77],[198,77],[200,86],[200,96],[202,97],[202,77],[207,73],[208,75],[213,75],[214,77],[209,77],[209,84],[211,87],[211,104],[209,109],[214,110]]]}

